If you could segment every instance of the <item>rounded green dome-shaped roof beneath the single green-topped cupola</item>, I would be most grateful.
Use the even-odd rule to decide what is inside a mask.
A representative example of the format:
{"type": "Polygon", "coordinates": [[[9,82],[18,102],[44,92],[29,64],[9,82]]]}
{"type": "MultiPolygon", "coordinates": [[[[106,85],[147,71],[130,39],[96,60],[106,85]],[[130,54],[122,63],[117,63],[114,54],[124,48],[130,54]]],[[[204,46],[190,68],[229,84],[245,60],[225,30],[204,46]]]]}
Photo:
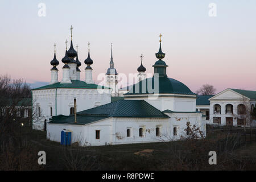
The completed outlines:
{"type": "MultiPolygon", "coordinates": [[[[154,80],[155,80],[154,77],[151,77],[151,78],[142,80],[137,84],[132,85],[129,92],[124,94],[124,96],[129,96],[134,94],[150,94],[151,92],[150,90],[148,90],[148,88],[154,89],[154,80]],[[150,85],[148,85],[148,83],[150,83],[150,85]]],[[[159,93],[196,95],[186,85],[184,85],[180,81],[177,81],[173,78],[167,78],[167,77],[159,77],[159,93]]]]}

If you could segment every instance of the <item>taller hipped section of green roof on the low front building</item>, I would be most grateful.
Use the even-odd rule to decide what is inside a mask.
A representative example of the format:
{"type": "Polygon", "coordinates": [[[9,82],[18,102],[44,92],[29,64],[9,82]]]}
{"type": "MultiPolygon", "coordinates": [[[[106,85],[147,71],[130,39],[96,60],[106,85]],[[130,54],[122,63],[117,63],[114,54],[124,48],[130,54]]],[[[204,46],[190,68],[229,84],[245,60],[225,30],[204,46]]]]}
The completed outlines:
{"type": "Polygon", "coordinates": [[[144,100],[119,100],[80,111],[77,114],[98,114],[108,115],[109,117],[168,118],[167,115],[144,100]]]}

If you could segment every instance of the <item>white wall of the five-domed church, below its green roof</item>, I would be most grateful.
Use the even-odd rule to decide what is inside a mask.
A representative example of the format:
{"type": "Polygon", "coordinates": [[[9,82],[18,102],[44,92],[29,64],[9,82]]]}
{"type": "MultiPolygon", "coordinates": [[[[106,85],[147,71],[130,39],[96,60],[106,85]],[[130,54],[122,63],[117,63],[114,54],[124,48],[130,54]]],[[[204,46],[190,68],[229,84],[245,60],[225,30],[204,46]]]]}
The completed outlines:
{"type": "Polygon", "coordinates": [[[111,102],[110,93],[98,93],[97,89],[55,88],[33,90],[32,94],[32,113],[36,113],[37,107],[41,108],[41,116],[35,115],[33,118],[33,128],[39,130],[44,129],[44,120],[49,121],[51,118],[50,107],[52,115],[69,115],[70,108],[74,107],[74,98],[77,102],[77,112],[111,102]]]}

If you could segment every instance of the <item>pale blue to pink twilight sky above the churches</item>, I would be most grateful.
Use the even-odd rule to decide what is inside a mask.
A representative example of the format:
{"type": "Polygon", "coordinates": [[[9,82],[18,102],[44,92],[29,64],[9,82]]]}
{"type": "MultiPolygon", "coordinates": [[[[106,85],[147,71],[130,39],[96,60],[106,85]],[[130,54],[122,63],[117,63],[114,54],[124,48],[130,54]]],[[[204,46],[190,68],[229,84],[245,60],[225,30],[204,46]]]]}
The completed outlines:
{"type": "Polygon", "coordinates": [[[0,30],[1,75],[24,78],[27,82],[49,82],[49,62],[56,42],[60,81],[64,42],[65,39],[70,41],[72,24],[74,46],[79,44],[81,80],[85,78],[88,41],[96,80],[97,75],[105,73],[109,67],[112,42],[114,67],[118,73],[136,73],[141,53],[146,73],[153,73],[151,66],[156,61],[158,35],[162,33],[168,77],[183,82],[193,92],[203,84],[214,85],[217,92],[226,88],[256,90],[254,1],[236,2],[232,8],[228,3],[217,1],[215,18],[208,16],[209,2],[201,1],[191,6],[163,1],[160,14],[155,12],[155,2],[145,7],[134,1],[138,3],[134,7],[128,2],[86,4],[81,1],[72,5],[77,10],[73,14],[63,13],[69,10],[71,2],[62,6],[46,2],[48,11],[43,18],[37,15],[39,2],[24,2],[20,6],[12,1],[1,2],[0,15],[6,17],[2,20],[5,27],[0,30]]]}

